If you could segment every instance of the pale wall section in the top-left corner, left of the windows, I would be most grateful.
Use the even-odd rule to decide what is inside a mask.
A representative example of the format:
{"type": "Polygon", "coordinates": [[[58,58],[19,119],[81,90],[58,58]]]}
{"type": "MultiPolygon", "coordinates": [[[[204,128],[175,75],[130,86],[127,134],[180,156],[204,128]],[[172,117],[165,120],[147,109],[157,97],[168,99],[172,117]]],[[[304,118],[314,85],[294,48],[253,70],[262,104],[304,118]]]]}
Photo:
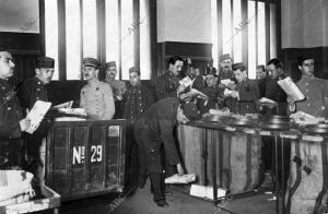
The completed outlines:
{"type": "Polygon", "coordinates": [[[0,32],[39,33],[38,0],[0,0],[0,32]]]}

